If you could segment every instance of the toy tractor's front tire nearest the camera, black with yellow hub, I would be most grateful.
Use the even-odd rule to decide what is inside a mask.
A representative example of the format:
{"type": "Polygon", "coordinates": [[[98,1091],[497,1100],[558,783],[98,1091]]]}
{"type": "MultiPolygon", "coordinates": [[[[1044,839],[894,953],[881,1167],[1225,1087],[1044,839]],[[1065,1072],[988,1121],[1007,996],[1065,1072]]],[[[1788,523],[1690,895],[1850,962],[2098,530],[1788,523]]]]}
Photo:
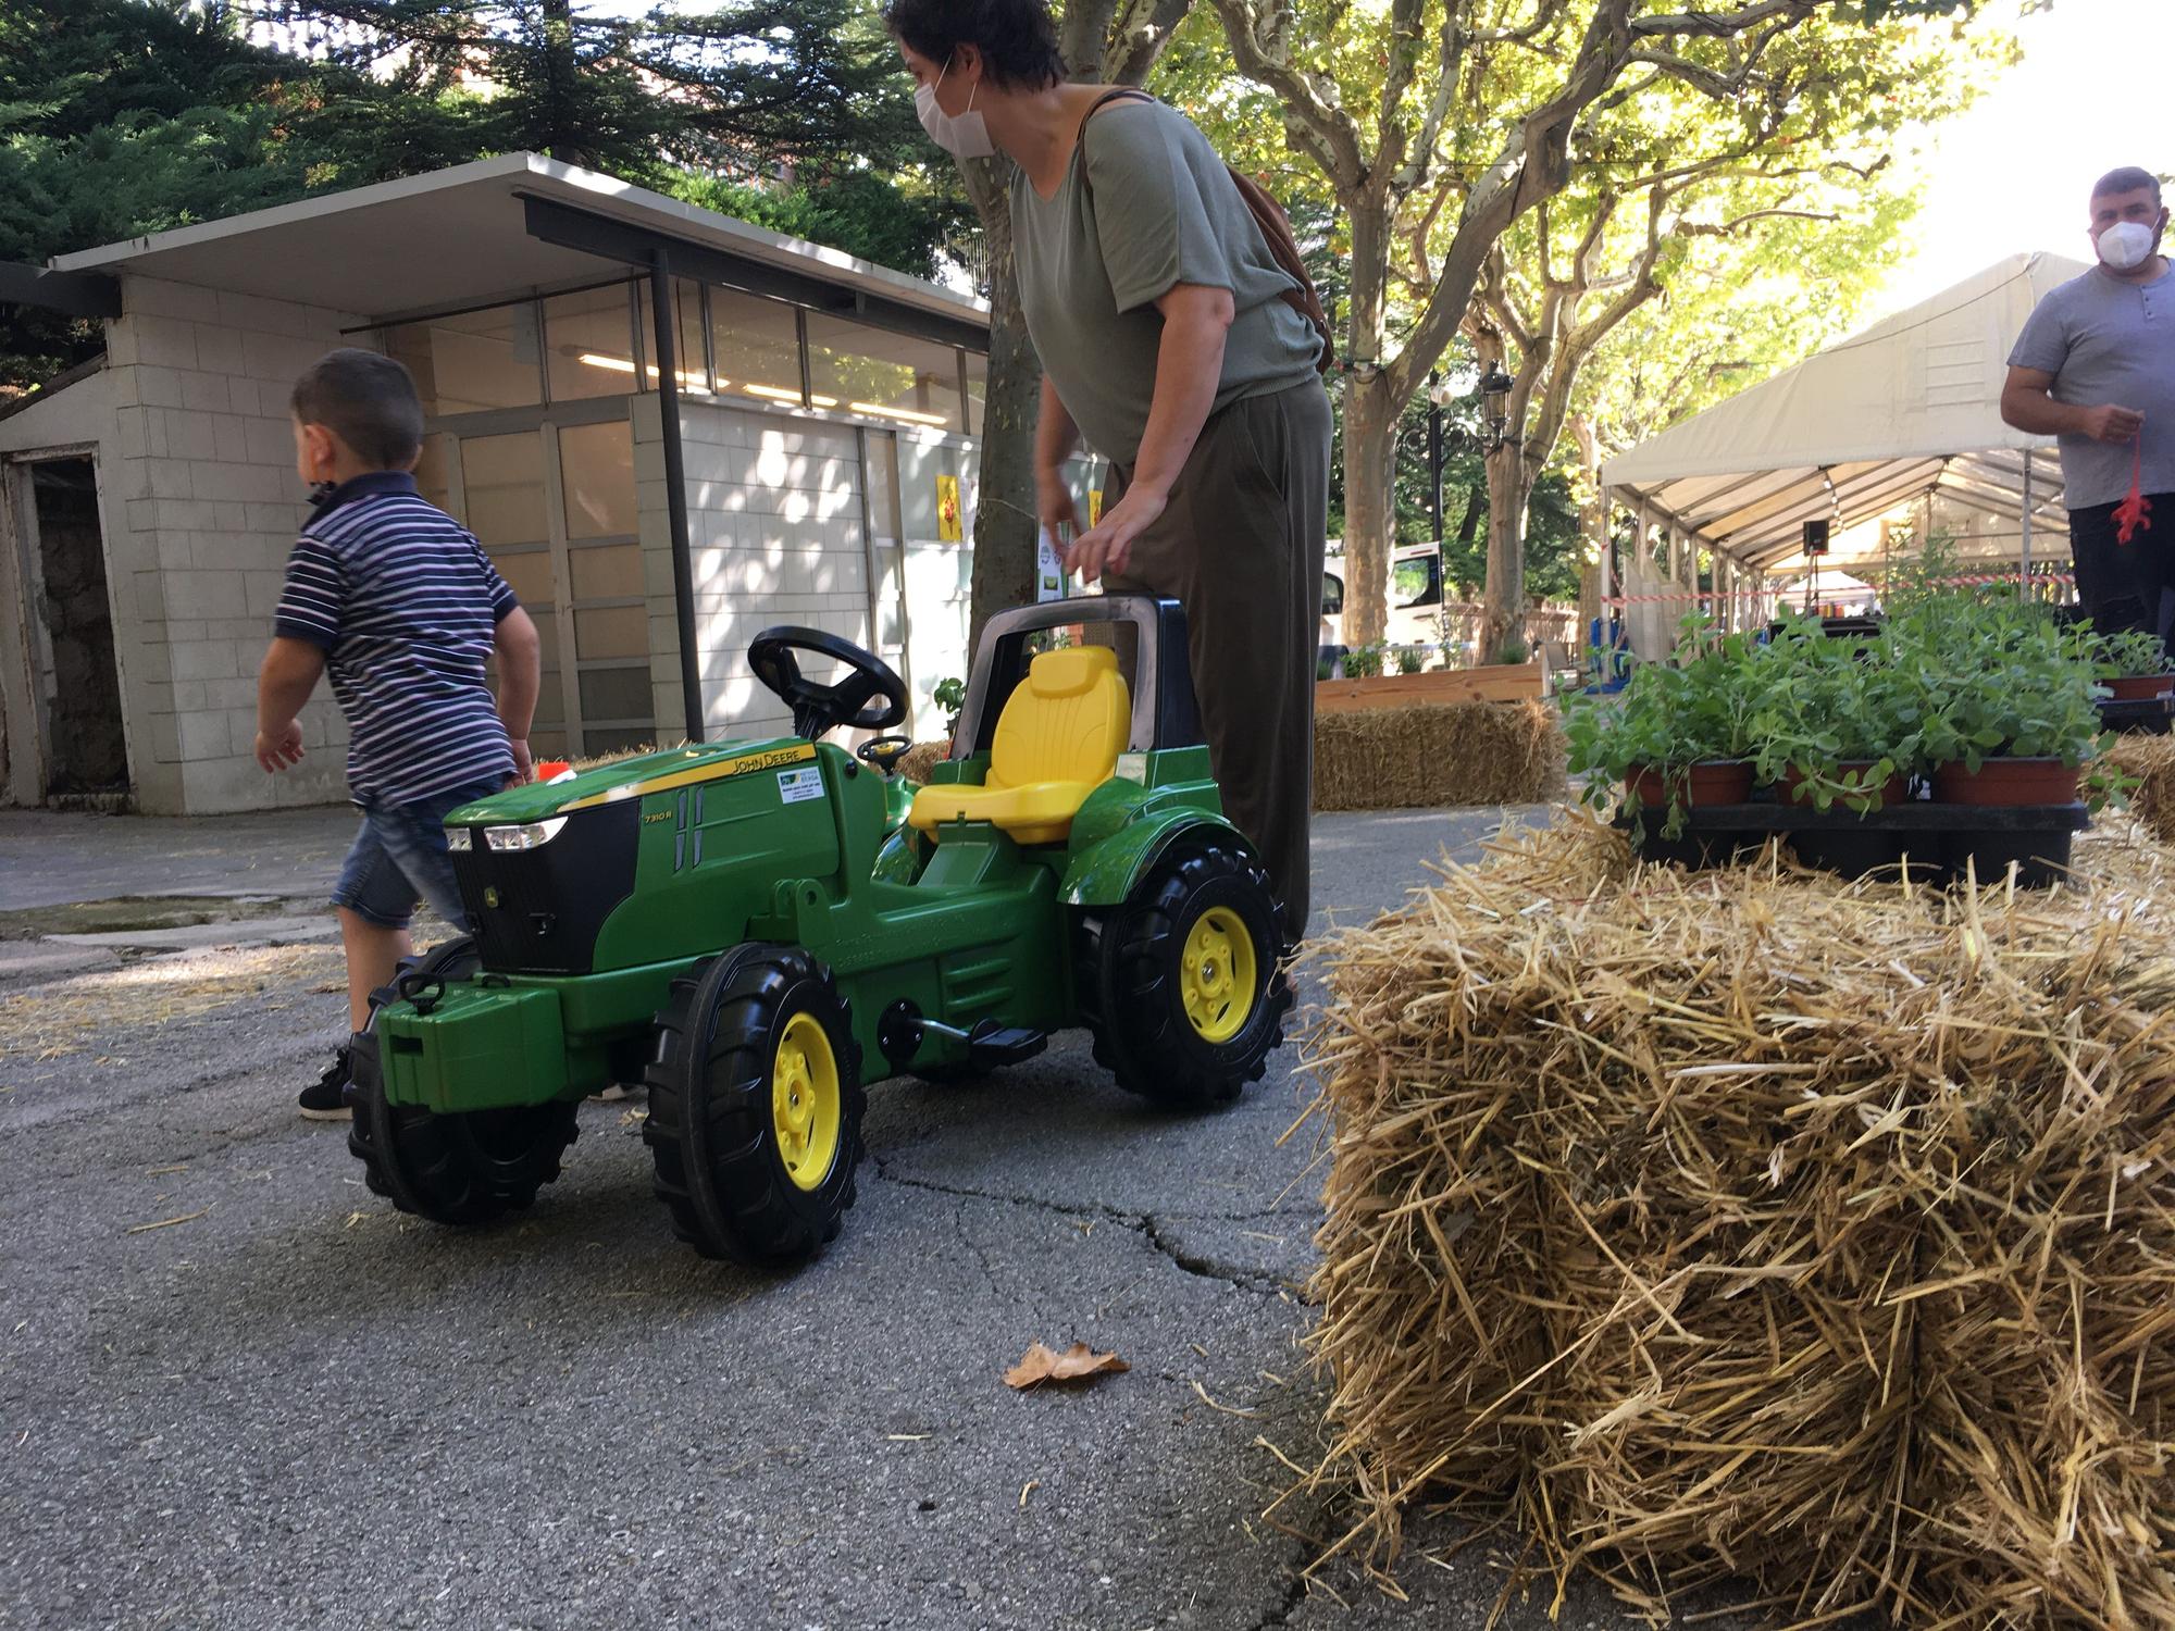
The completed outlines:
{"type": "MultiPolygon", "coordinates": [[[[735,946],[672,981],[644,1085],[650,1113],[642,1140],[657,1163],[657,1198],[672,1211],[681,1240],[705,1257],[790,1268],[837,1237],[855,1200],[868,1094],[853,1018],[831,970],[809,953],[735,946]],[[831,1061],[822,1096],[835,1111],[835,1133],[826,1159],[820,1131],[805,1131],[794,1157],[792,1129],[781,1126],[772,1100],[790,1042],[800,1063],[816,1068],[807,1059],[809,1024],[822,1033],[831,1061]],[[796,1176],[798,1159],[820,1161],[820,1170],[811,1166],[796,1176]]],[[[820,1126],[822,1111],[816,1116],[820,1126]]]]}

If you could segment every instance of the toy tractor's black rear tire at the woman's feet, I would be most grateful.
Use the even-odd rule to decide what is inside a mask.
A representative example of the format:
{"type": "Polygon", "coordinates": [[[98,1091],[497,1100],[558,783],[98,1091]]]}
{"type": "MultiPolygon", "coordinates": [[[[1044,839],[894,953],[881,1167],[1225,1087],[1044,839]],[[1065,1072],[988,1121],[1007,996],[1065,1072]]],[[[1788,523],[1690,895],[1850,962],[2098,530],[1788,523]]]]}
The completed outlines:
{"type": "Polygon", "coordinates": [[[1283,907],[1262,863],[1222,833],[1179,837],[1122,905],[1077,916],[1079,1005],[1096,1063],[1170,1109],[1231,1105],[1283,1046],[1292,985],[1281,950],[1283,907]],[[1227,946],[1238,926],[1253,953],[1251,1007],[1231,1035],[1203,1033],[1185,1005],[1183,953],[1209,913],[1227,946]]]}

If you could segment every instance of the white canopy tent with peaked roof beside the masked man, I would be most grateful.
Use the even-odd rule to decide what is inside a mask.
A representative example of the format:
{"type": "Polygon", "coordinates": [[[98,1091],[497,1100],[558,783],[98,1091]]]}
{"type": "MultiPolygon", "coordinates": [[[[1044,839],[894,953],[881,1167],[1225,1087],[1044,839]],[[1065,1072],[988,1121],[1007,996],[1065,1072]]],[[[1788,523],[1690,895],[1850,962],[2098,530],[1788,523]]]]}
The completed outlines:
{"type": "Polygon", "coordinates": [[[1799,559],[1805,522],[1840,535],[1914,500],[1992,520],[1992,548],[1968,550],[1977,559],[2062,559],[2053,437],[2012,431],[1999,404],[2025,318],[2081,272],[2060,254],[1997,261],[1605,461],[1601,485],[1642,537],[1668,537],[1677,583],[1692,583],[1696,548],[1714,557],[1718,589],[1736,589],[1799,559]]]}

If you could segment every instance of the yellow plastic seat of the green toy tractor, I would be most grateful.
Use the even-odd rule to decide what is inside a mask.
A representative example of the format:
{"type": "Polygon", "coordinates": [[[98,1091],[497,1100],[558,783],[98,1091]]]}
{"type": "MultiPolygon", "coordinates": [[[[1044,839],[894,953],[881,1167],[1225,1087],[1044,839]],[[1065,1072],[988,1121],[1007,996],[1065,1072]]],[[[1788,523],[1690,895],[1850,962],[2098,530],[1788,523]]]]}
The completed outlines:
{"type": "Polygon", "coordinates": [[[942,839],[944,822],[990,822],[1020,844],[1057,844],[1088,794],[1109,781],[1133,722],[1133,698],[1109,646],[1046,650],[996,720],[990,779],[913,794],[907,822],[942,839]]]}

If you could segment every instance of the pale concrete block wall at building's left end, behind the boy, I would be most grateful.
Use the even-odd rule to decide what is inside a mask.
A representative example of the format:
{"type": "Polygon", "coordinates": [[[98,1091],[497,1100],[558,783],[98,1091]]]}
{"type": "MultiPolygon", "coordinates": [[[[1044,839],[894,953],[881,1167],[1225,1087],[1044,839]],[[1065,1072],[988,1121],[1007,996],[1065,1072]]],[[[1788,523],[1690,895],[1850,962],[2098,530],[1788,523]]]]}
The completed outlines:
{"type": "Polygon", "coordinates": [[[357,344],[341,328],[359,318],[154,278],[124,278],[122,311],[107,324],[115,439],[100,485],[139,807],[337,802],[346,726],[328,687],[302,713],[300,768],[265,776],[250,746],[257,663],[309,513],[287,394],[357,344]]]}

